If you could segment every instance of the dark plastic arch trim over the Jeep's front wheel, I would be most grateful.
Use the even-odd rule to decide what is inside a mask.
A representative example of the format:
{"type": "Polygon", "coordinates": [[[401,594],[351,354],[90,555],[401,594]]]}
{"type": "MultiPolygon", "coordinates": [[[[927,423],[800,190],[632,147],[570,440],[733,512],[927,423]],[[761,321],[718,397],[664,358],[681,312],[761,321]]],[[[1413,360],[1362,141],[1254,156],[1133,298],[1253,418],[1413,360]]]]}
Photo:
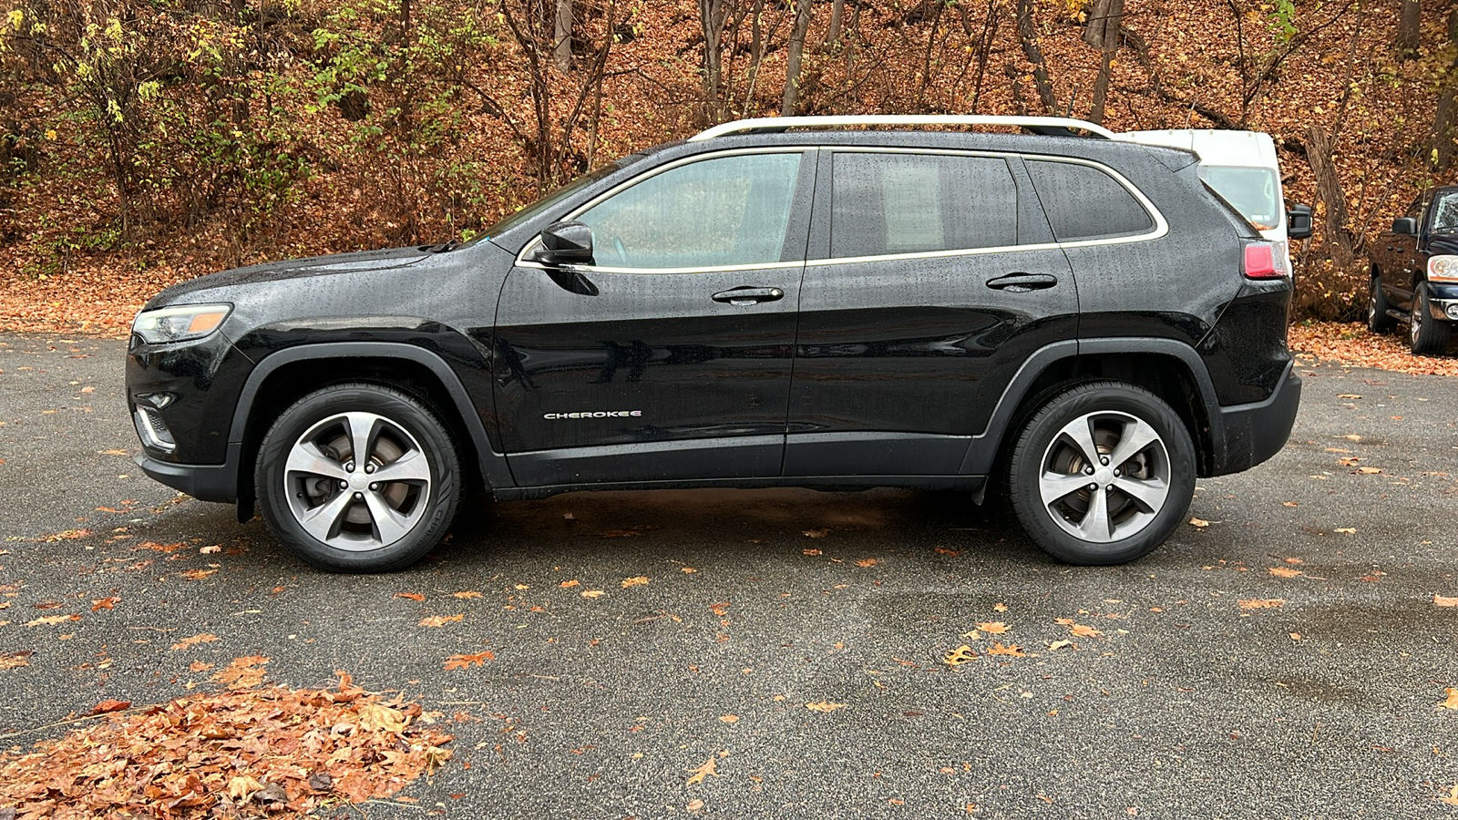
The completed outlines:
{"type": "Polygon", "coordinates": [[[327,341],[319,344],[299,344],[265,356],[262,362],[260,362],[258,366],[248,374],[248,381],[243,382],[243,391],[238,397],[238,407],[233,410],[233,422],[227,432],[227,463],[235,468],[235,474],[236,468],[242,464],[243,432],[248,429],[248,416],[252,410],[254,400],[268,375],[284,365],[305,359],[316,360],[344,357],[405,359],[430,369],[430,372],[440,379],[440,384],[445,385],[446,392],[451,394],[451,400],[455,403],[455,410],[461,416],[461,422],[464,423],[467,432],[471,435],[471,441],[480,460],[478,467],[481,470],[481,479],[486,481],[486,486],[493,490],[516,486],[512,480],[512,473],[506,467],[506,458],[500,452],[491,449],[491,441],[486,435],[486,426],[481,423],[481,416],[475,406],[471,404],[471,397],[467,392],[465,385],[461,384],[461,378],[451,369],[451,365],[448,365],[439,355],[426,350],[424,347],[392,341],[327,341]]]}

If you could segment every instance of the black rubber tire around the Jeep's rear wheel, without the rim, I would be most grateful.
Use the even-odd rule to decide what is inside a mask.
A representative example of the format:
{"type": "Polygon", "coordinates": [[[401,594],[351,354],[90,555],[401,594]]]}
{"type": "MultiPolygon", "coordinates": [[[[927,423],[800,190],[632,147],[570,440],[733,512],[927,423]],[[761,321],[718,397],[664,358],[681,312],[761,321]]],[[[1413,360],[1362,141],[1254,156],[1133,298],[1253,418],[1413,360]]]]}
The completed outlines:
{"type": "Polygon", "coordinates": [[[1155,394],[1124,382],[1092,382],[1059,394],[1028,420],[1013,448],[1007,476],[1018,521],[1044,552],[1066,563],[1126,563],[1162,544],[1184,521],[1194,496],[1194,442],[1178,413],[1155,394]],[[1128,413],[1159,433],[1169,457],[1169,495],[1155,519],[1139,533],[1108,544],[1092,544],[1070,535],[1053,521],[1042,505],[1038,476],[1044,452],[1059,430],[1080,416],[1104,411],[1128,413]]]}

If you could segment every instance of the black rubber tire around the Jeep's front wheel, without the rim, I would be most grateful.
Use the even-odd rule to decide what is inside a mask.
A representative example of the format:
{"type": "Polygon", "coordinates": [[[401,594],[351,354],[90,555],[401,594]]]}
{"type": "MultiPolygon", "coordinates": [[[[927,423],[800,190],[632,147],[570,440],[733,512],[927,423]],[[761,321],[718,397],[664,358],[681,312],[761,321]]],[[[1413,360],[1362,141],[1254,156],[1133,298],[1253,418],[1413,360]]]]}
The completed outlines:
{"type": "Polygon", "coordinates": [[[421,403],[388,387],[344,384],[311,392],[278,414],[258,449],[254,483],[268,528],[300,559],[331,572],[389,572],[416,563],[445,537],[459,505],[459,474],[451,433],[421,403]],[[348,411],[389,419],[414,436],[430,461],[430,496],[424,502],[429,505],[424,518],[404,538],[378,550],[350,552],[319,541],[295,519],[286,496],[289,448],[319,420],[348,411]]]}

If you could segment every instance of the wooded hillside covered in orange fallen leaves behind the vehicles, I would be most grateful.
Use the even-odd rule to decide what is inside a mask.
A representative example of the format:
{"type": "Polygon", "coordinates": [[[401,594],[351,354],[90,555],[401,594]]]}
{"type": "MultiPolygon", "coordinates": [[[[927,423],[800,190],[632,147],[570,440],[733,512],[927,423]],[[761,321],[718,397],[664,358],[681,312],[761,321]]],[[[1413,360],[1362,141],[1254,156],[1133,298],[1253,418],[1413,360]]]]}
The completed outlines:
{"type": "Polygon", "coordinates": [[[1353,320],[1366,245],[1454,178],[1458,15],[1424,0],[1398,31],[1400,6],[0,0],[0,322],[115,331],[178,280],[478,233],[636,149],[783,112],[1268,131],[1317,207],[1298,308],[1353,320]]]}

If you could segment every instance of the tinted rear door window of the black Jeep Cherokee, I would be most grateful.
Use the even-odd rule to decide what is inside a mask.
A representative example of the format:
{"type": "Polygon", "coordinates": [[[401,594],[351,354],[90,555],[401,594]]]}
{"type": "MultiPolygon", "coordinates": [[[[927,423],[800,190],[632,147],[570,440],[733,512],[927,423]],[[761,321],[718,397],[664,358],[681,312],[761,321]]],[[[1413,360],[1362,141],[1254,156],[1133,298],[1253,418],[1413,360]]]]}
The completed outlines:
{"type": "Polygon", "coordinates": [[[1018,244],[1018,187],[987,156],[851,153],[834,159],[831,257],[1018,244]]]}

